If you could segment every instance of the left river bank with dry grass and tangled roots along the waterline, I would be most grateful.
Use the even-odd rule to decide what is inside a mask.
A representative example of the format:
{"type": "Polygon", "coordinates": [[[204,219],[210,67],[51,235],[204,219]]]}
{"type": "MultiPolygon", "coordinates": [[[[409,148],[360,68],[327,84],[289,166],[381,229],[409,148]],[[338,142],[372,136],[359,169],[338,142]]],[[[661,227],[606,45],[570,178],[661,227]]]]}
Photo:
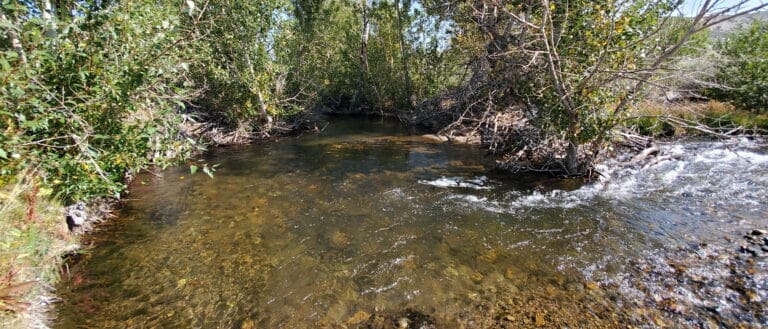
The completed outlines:
{"type": "MultiPolygon", "coordinates": [[[[300,119],[290,125],[273,124],[274,131],[265,133],[238,129],[229,131],[204,122],[185,120],[181,131],[186,138],[203,140],[209,147],[226,147],[262,143],[298,134],[319,131],[316,125],[300,119]]],[[[205,168],[206,163],[189,162],[199,157],[195,152],[171,152],[163,156],[176,163],[205,168]]],[[[157,156],[157,155],[155,155],[157,156]]],[[[206,168],[211,170],[212,168],[206,168]]],[[[148,170],[162,175],[162,169],[148,170]]],[[[203,175],[202,171],[198,175],[203,175]]],[[[138,173],[126,172],[123,182],[129,185],[138,173]]],[[[192,173],[191,173],[192,174],[192,173]]],[[[29,170],[0,185],[0,327],[9,329],[48,328],[52,309],[59,297],[53,288],[68,277],[68,256],[84,252],[87,235],[113,217],[130,191],[119,198],[98,197],[65,205],[53,190],[40,187],[40,173],[29,170]]]]}

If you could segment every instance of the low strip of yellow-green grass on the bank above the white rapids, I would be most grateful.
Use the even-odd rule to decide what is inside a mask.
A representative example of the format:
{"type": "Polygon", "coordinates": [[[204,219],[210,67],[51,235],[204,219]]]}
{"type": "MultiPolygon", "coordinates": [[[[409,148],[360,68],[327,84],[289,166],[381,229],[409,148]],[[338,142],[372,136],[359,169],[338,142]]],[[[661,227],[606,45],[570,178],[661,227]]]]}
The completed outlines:
{"type": "Polygon", "coordinates": [[[643,102],[630,112],[625,126],[653,137],[718,133],[768,134],[768,113],[738,110],[719,101],[643,102]]]}

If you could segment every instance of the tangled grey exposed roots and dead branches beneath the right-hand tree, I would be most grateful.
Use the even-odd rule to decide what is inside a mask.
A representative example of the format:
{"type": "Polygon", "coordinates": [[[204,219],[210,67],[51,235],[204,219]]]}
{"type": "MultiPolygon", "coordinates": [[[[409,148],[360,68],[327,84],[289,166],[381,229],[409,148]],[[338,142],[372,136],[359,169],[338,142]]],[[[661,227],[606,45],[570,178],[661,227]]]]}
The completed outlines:
{"type": "MultiPolygon", "coordinates": [[[[489,88],[492,89],[492,88],[489,88]]],[[[521,104],[500,100],[494,92],[479,95],[483,88],[467,87],[423,103],[410,123],[422,129],[438,131],[446,140],[479,140],[490,155],[499,157],[499,168],[512,172],[546,172],[566,175],[566,149],[561,136],[531,122],[532,111],[521,104]],[[463,98],[460,98],[463,97],[463,98]]],[[[579,149],[579,172],[595,174],[591,147],[579,149]]]]}

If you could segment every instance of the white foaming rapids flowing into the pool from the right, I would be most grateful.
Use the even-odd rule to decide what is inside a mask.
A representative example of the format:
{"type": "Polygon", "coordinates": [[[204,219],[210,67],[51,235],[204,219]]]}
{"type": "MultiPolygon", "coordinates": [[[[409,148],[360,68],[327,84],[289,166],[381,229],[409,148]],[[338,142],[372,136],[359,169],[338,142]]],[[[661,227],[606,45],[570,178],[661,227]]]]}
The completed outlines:
{"type": "MultiPolygon", "coordinates": [[[[698,142],[662,145],[645,167],[610,161],[597,166],[602,177],[573,191],[509,192],[502,200],[449,195],[492,212],[513,213],[526,208],[575,208],[595,198],[622,201],[635,198],[695,198],[716,204],[759,205],[768,197],[768,154],[753,141],[698,142]]],[[[461,178],[422,182],[434,186],[463,186],[461,178]]],[[[485,186],[483,186],[485,187],[485,186]]]]}

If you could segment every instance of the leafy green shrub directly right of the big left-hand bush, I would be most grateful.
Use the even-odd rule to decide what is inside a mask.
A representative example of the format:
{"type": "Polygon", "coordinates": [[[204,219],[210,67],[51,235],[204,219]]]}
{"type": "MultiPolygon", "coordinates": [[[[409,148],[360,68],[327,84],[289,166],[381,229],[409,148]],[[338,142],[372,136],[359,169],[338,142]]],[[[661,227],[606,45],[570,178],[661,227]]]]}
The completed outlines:
{"type": "Polygon", "coordinates": [[[288,3],[280,0],[214,0],[202,12],[193,67],[204,88],[196,101],[208,120],[236,127],[283,114],[288,3]]]}

